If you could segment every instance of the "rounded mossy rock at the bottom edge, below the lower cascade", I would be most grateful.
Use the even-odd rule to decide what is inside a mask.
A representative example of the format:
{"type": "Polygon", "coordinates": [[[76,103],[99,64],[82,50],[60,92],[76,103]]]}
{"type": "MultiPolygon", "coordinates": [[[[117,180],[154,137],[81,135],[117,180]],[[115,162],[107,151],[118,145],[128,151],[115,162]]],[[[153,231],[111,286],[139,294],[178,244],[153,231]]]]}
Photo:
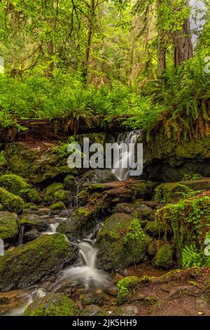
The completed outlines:
{"type": "Polygon", "coordinates": [[[73,301],[64,293],[49,293],[37,298],[29,305],[25,316],[75,316],[79,310],[73,301]]]}

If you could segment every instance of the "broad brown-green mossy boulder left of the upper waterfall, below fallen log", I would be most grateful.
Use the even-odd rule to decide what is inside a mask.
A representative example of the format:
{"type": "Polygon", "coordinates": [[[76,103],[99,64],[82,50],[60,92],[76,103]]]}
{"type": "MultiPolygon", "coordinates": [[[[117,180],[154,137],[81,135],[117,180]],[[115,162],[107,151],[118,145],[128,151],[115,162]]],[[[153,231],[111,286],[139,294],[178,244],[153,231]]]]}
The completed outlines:
{"type": "Polygon", "coordinates": [[[55,142],[8,143],[4,148],[8,171],[27,178],[33,184],[53,182],[57,177],[67,176],[75,170],[67,165],[67,154],[63,157],[55,150],[55,142]]]}

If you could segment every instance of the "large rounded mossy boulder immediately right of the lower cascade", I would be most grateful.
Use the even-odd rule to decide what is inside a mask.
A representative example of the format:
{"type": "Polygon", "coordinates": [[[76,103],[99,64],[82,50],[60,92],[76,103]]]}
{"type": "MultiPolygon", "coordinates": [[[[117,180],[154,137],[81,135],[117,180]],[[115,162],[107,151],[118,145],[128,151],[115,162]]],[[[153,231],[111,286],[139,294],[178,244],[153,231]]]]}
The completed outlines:
{"type": "Polygon", "coordinates": [[[97,237],[97,263],[104,270],[118,270],[140,263],[150,242],[151,238],[141,229],[136,217],[114,213],[105,220],[97,237]]]}

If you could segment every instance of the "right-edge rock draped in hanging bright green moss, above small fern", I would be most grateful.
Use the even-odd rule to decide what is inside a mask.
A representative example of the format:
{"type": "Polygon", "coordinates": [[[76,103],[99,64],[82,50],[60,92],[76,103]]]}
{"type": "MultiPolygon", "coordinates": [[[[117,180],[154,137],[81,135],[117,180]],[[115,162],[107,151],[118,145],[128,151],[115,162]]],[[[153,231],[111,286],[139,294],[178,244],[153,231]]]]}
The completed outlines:
{"type": "Polygon", "coordinates": [[[156,211],[158,224],[165,232],[172,232],[176,256],[179,259],[183,246],[200,244],[203,249],[204,237],[209,232],[210,197],[199,195],[181,200],[177,204],[168,204],[156,211]]]}

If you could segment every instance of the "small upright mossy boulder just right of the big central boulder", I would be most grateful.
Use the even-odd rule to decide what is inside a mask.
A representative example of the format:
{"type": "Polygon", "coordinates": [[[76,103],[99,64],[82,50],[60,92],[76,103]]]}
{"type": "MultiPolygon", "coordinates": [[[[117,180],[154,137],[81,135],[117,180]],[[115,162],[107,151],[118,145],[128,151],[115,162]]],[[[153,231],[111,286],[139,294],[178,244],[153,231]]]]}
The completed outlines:
{"type": "Polygon", "coordinates": [[[174,249],[171,244],[164,244],[160,246],[158,253],[153,261],[155,268],[169,269],[174,265],[174,249]]]}

